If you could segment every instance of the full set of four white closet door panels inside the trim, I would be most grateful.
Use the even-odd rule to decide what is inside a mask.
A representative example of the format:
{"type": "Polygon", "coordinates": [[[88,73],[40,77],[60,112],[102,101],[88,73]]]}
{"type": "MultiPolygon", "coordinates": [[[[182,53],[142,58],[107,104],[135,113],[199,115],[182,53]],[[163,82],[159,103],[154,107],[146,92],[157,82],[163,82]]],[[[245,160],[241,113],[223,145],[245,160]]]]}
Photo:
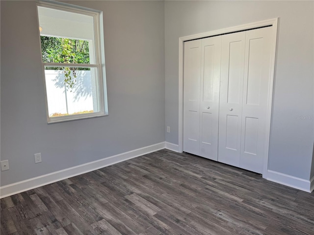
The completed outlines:
{"type": "Polygon", "coordinates": [[[271,27],[184,42],[183,151],[262,173],[271,27]]]}

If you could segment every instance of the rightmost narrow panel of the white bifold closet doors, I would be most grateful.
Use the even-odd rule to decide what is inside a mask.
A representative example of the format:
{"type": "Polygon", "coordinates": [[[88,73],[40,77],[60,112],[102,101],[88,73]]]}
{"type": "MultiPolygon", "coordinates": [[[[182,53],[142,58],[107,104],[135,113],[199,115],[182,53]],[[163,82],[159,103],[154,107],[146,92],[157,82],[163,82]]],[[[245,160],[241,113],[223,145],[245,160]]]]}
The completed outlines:
{"type": "Polygon", "coordinates": [[[270,82],[271,28],[246,32],[240,167],[262,173],[270,82]]]}

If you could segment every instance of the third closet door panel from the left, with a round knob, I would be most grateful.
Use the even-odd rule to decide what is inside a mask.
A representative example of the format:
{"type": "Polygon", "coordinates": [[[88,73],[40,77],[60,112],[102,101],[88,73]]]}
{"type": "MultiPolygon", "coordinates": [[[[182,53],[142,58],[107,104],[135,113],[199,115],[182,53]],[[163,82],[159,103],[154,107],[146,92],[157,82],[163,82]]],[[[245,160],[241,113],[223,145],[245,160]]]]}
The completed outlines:
{"type": "Polygon", "coordinates": [[[240,166],[245,32],[223,35],[218,161],[240,166]]]}

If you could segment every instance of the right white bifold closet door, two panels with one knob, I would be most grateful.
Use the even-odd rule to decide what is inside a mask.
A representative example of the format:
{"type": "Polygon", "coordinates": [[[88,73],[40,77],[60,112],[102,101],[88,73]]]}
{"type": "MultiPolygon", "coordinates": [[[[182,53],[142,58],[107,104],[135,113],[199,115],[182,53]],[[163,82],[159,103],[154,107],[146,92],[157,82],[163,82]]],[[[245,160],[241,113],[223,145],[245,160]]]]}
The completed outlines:
{"type": "Polygon", "coordinates": [[[262,173],[270,82],[270,27],[222,38],[218,161],[262,173]]]}

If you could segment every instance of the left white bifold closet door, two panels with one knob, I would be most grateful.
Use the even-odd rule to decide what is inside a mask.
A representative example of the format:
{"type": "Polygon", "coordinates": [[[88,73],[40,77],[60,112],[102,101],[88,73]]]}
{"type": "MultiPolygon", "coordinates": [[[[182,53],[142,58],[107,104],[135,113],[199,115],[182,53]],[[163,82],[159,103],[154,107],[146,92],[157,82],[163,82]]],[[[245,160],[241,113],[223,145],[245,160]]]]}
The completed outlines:
{"type": "Polygon", "coordinates": [[[221,36],[184,43],[183,151],[217,161],[221,36]]]}

